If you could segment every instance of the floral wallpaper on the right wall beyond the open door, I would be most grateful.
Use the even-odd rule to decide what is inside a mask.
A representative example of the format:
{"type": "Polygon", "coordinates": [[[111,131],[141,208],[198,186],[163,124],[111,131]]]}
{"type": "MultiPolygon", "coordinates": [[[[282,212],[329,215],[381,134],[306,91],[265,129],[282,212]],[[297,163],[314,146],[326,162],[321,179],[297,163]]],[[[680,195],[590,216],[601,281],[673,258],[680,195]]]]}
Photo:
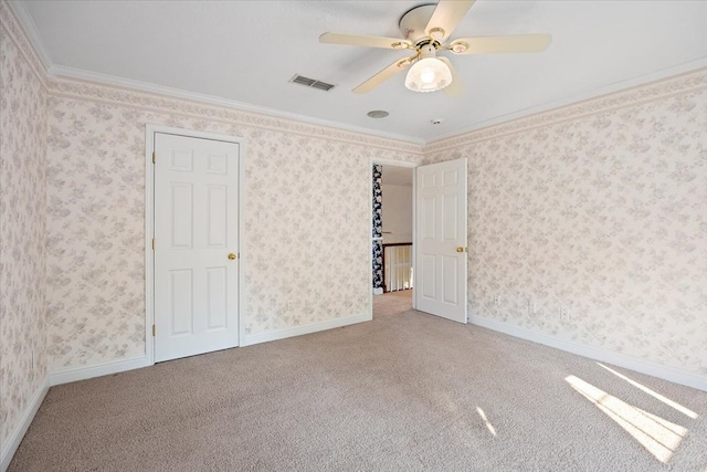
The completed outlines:
{"type": "Polygon", "coordinates": [[[706,130],[703,70],[428,146],[468,157],[469,314],[707,374],[706,130]]]}

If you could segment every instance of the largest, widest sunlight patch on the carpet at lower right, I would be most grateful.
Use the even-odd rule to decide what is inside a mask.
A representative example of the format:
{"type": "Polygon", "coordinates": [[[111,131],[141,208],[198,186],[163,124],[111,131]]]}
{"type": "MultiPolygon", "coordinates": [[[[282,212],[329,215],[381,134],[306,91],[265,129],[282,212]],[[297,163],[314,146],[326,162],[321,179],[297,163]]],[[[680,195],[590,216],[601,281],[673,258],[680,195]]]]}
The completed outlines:
{"type": "Polygon", "coordinates": [[[671,460],[687,434],[686,428],[629,405],[578,377],[568,376],[564,380],[663,463],[671,460]]]}

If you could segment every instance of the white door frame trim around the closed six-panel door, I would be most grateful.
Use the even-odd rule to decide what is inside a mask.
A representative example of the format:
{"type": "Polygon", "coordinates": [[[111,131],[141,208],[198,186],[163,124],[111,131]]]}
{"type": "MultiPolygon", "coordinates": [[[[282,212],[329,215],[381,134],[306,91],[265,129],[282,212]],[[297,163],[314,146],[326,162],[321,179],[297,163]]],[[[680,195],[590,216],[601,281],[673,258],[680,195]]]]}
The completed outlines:
{"type": "Polygon", "coordinates": [[[245,337],[245,138],[148,123],[145,125],[145,357],[148,366],[155,365],[155,338],[152,337],[152,325],[155,324],[155,258],[152,252],[152,238],[155,234],[155,166],[152,164],[155,133],[239,145],[238,346],[243,345],[245,337]]]}

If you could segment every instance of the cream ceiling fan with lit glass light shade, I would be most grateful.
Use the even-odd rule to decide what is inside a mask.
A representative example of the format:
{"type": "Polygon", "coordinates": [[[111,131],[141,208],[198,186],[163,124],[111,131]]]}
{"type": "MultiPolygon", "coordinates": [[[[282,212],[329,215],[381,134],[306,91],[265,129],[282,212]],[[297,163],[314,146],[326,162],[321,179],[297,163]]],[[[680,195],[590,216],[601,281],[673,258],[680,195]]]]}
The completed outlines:
{"type": "Polygon", "coordinates": [[[403,69],[410,67],[405,77],[409,90],[443,90],[447,96],[461,95],[464,87],[452,62],[447,57],[437,56],[437,51],[452,51],[454,54],[520,53],[541,52],[550,45],[549,34],[458,38],[445,43],[474,1],[440,0],[436,4],[423,3],[408,10],[399,22],[404,39],[327,32],[319,36],[319,42],[414,52],[358,85],[354,88],[355,93],[368,93],[403,69]]]}

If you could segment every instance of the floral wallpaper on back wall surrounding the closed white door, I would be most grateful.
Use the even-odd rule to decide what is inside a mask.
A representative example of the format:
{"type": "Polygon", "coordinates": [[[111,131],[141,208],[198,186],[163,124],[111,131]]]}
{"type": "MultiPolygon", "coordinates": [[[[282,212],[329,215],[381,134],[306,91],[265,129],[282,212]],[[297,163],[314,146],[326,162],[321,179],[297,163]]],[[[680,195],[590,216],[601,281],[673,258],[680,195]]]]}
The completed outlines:
{"type": "Polygon", "coordinates": [[[371,159],[420,147],[94,84],[50,82],[54,370],[145,353],[145,125],[245,138],[246,334],[369,313],[371,159]]]}

